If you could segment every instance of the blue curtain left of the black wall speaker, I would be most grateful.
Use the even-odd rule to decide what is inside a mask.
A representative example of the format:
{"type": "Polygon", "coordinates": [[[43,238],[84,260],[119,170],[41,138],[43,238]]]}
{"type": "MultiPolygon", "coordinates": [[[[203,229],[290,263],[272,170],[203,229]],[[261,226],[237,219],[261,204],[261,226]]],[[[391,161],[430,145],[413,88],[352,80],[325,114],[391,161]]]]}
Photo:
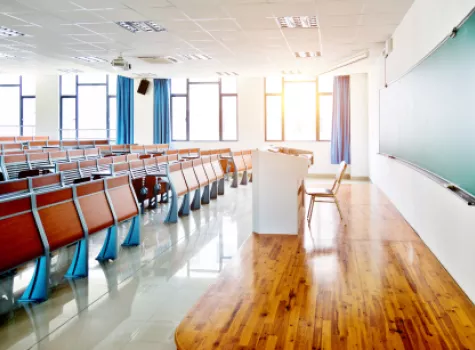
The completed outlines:
{"type": "Polygon", "coordinates": [[[117,144],[134,143],[134,80],[117,77],[117,144]]]}

